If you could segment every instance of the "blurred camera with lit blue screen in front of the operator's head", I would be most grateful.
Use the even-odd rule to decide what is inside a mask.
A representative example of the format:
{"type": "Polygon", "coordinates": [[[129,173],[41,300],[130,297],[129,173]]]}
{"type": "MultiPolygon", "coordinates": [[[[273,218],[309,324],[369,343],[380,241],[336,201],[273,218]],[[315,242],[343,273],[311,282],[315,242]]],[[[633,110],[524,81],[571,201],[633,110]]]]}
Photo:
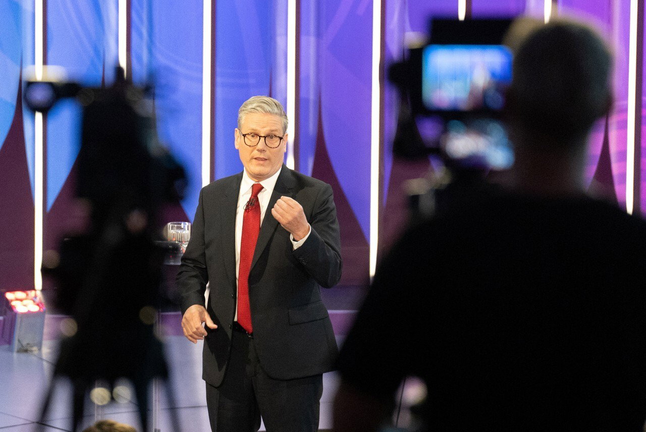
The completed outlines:
{"type": "Polygon", "coordinates": [[[502,124],[512,51],[511,19],[432,19],[429,37],[390,68],[402,107],[393,152],[439,154],[447,165],[502,170],[513,162],[502,124]]]}

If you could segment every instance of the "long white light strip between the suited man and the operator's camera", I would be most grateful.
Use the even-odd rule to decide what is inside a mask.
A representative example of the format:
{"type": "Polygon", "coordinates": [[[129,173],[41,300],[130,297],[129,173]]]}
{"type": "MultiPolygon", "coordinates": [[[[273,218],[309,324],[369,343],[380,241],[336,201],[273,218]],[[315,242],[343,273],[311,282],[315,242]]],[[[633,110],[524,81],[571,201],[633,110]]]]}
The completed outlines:
{"type": "Polygon", "coordinates": [[[370,278],[377,267],[379,243],[379,150],[380,150],[380,97],[381,65],[381,2],[373,1],[372,9],[372,112],[370,133],[370,278]]]}

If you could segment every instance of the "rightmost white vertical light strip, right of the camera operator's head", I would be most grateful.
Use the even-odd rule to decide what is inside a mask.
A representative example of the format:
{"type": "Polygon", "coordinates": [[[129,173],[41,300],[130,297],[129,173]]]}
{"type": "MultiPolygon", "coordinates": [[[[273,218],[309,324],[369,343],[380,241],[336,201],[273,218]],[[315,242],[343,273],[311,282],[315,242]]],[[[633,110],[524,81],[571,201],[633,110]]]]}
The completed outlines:
{"type": "Polygon", "coordinates": [[[632,214],[635,182],[635,115],[637,99],[637,2],[630,0],[630,41],[628,54],[628,125],[626,139],[626,211],[632,214]]]}

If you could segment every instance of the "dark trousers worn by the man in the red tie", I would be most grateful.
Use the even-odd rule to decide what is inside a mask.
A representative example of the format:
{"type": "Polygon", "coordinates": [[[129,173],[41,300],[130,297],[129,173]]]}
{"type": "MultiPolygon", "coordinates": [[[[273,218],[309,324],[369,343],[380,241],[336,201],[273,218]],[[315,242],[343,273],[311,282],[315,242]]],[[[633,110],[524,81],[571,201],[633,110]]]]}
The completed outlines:
{"type": "Polygon", "coordinates": [[[323,376],[275,380],[260,367],[253,338],[234,331],[231,357],[220,387],[206,385],[213,432],[318,431],[323,376]]]}

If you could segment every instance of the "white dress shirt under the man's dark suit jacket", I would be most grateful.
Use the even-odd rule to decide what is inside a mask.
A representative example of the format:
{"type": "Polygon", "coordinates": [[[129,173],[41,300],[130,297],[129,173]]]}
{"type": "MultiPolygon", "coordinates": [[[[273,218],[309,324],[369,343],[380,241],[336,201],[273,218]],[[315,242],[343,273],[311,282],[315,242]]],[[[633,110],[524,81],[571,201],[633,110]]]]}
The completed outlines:
{"type": "MultiPolygon", "coordinates": [[[[265,218],[265,212],[267,211],[267,206],[269,205],[271,194],[273,193],[274,187],[276,186],[276,180],[278,180],[278,176],[280,175],[280,170],[282,170],[282,168],[267,180],[260,181],[260,184],[262,185],[262,189],[260,190],[260,192],[258,192],[258,203],[260,204],[260,226],[262,226],[262,221],[265,218]]],[[[238,192],[238,206],[236,207],[236,290],[238,287],[238,273],[240,273],[240,243],[242,242],[242,221],[244,218],[244,206],[247,201],[249,201],[249,198],[251,198],[251,187],[254,185],[254,183],[256,182],[251,180],[251,178],[247,176],[247,171],[245,170],[242,174],[242,181],[240,182],[240,192],[238,192]]],[[[271,209],[269,211],[271,211],[271,209]]],[[[291,234],[289,235],[289,239],[291,240],[294,249],[298,249],[300,245],[302,245],[305,240],[307,240],[307,237],[309,237],[309,233],[311,231],[312,229],[310,227],[307,235],[304,238],[298,240],[298,242],[294,240],[291,234]]],[[[236,292],[236,301],[237,299],[238,295],[236,292]]],[[[237,306],[236,314],[233,319],[235,321],[238,320],[237,306]]]]}

